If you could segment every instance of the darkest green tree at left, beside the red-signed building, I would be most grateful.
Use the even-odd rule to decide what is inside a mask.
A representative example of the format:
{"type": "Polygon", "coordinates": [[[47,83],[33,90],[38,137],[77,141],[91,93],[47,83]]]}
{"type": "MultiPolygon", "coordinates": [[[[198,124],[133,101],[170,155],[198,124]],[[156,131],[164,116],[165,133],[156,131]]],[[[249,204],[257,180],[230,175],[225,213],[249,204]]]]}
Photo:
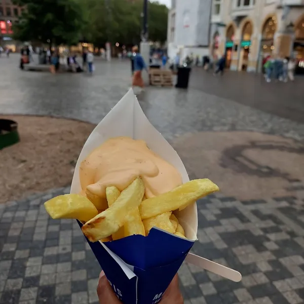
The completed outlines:
{"type": "Polygon", "coordinates": [[[84,26],[79,0],[14,0],[25,10],[14,25],[14,39],[60,45],[79,42],[84,26]]]}

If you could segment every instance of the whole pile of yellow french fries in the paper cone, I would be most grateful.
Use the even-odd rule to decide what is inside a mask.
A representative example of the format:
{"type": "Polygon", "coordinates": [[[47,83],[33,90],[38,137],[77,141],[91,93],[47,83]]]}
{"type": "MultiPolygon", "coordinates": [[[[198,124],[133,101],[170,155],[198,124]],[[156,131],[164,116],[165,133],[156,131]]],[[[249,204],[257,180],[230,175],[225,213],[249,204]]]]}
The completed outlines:
{"type": "Polygon", "coordinates": [[[45,203],[45,208],[52,218],[74,218],[83,222],[82,231],[91,242],[147,236],[153,227],[185,238],[175,211],[216,191],[218,186],[211,180],[196,179],[146,199],[143,182],[138,176],[122,192],[115,186],[107,187],[106,200],[86,189],[85,194],[55,197],[45,203]],[[100,206],[104,209],[101,212],[98,211],[100,206]]]}

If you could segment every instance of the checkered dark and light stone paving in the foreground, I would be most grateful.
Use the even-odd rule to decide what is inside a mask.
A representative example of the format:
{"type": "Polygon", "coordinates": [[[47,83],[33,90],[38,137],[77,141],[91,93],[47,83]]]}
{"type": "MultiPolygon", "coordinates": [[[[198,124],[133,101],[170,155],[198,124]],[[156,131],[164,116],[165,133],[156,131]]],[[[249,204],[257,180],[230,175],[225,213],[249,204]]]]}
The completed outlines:
{"type": "MultiPolygon", "coordinates": [[[[298,196],[238,201],[221,194],[198,201],[192,251],[238,270],[240,283],[183,263],[185,304],[304,302],[304,190],[298,196]]],[[[0,304],[98,303],[101,271],[77,222],[54,220],[43,203],[61,188],[0,205],[0,304]]]]}

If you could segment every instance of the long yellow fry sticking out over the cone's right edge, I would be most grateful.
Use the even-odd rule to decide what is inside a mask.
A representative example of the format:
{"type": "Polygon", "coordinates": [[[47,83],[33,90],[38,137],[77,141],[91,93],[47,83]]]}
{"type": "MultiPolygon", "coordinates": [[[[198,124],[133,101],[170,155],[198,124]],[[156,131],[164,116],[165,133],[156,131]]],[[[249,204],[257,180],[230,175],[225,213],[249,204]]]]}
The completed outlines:
{"type": "Polygon", "coordinates": [[[141,219],[147,219],[174,210],[182,210],[196,200],[218,191],[218,186],[208,178],[195,179],[172,191],[144,200],[139,206],[141,219]]]}

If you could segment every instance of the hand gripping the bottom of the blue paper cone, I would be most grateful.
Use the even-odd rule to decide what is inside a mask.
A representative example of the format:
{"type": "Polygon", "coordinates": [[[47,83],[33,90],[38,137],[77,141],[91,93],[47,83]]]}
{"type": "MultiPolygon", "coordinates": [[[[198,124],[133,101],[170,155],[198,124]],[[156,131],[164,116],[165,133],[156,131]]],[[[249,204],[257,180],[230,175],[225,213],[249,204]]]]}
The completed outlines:
{"type": "MultiPolygon", "coordinates": [[[[121,301],[113,292],[103,271],[99,276],[97,294],[100,304],[121,304],[121,301]]],[[[178,288],[177,275],[173,278],[159,304],[183,304],[183,298],[178,288]]]]}

